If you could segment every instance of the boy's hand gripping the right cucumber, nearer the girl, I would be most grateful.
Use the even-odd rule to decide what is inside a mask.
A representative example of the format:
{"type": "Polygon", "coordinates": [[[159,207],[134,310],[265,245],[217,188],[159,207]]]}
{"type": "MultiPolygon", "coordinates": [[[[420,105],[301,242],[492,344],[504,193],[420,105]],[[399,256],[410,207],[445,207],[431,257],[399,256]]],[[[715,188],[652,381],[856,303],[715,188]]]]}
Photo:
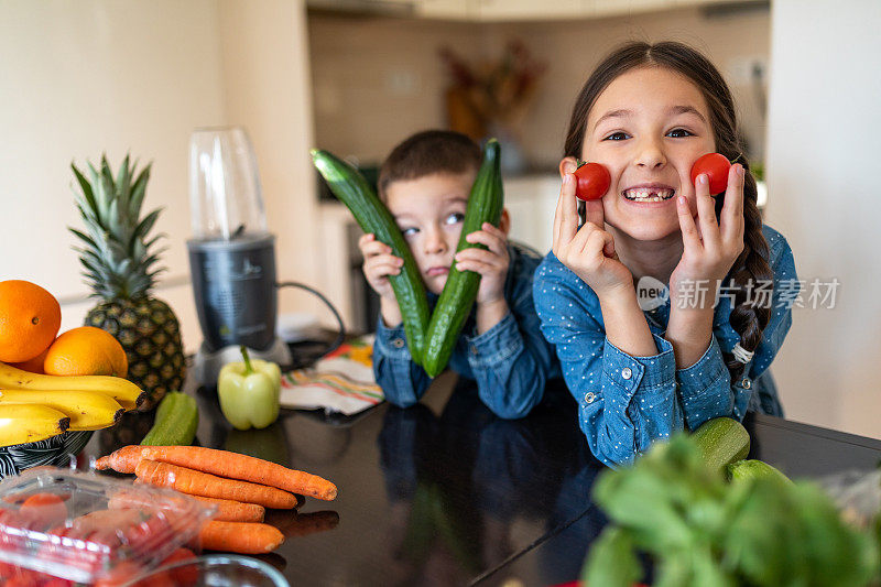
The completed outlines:
{"type": "Polygon", "coordinates": [[[485,244],[488,250],[470,247],[457,252],[456,268],[480,273],[477,303],[491,304],[504,300],[504,279],[510,263],[508,237],[489,222],[483,222],[481,229],[466,236],[465,240],[485,244]]]}

